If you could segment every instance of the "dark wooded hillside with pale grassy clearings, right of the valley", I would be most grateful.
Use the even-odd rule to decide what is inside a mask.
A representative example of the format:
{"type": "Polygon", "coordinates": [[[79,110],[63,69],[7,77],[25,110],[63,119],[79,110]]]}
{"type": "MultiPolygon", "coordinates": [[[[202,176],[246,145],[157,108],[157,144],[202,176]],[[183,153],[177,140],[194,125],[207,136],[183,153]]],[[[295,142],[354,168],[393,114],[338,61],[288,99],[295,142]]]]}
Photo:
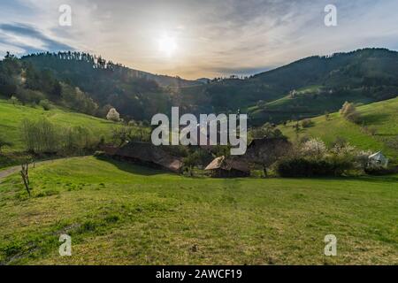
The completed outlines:
{"type": "Polygon", "coordinates": [[[398,52],[364,49],[308,57],[246,80],[213,80],[197,96],[182,89],[198,109],[246,111],[252,125],[337,111],[345,101],[371,103],[398,95],[398,52]]]}

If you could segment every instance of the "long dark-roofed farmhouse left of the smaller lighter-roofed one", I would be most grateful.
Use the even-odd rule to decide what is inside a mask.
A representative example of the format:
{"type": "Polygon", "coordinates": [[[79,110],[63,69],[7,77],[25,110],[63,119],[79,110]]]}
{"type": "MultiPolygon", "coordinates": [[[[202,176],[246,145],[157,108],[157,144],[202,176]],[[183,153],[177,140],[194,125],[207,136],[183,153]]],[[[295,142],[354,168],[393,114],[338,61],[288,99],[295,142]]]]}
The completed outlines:
{"type": "Polygon", "coordinates": [[[111,157],[172,172],[180,172],[182,166],[179,157],[174,157],[164,148],[148,142],[128,142],[121,148],[103,147],[103,151],[111,157]]]}

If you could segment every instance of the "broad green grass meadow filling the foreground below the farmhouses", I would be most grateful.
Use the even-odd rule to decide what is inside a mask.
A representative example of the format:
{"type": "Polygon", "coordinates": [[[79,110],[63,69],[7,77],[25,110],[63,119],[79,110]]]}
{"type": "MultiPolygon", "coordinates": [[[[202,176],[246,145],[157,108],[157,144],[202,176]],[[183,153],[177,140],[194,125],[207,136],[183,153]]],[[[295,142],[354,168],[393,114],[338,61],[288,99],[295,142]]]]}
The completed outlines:
{"type": "Polygon", "coordinates": [[[0,184],[0,263],[398,264],[398,176],[188,179],[75,157],[31,180],[31,199],[18,175],[0,184]]]}

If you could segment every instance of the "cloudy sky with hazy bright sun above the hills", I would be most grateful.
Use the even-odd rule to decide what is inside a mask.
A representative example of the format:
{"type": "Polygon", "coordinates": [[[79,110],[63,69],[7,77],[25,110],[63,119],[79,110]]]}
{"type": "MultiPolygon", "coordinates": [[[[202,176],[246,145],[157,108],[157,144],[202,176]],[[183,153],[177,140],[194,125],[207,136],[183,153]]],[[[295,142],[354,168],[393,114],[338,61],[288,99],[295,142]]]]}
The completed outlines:
{"type": "Polygon", "coordinates": [[[302,57],[398,50],[398,0],[0,0],[0,57],[80,50],[187,79],[260,73],[302,57]],[[61,26],[61,4],[72,26],[61,26]],[[325,26],[325,6],[337,26],[325,26]]]}

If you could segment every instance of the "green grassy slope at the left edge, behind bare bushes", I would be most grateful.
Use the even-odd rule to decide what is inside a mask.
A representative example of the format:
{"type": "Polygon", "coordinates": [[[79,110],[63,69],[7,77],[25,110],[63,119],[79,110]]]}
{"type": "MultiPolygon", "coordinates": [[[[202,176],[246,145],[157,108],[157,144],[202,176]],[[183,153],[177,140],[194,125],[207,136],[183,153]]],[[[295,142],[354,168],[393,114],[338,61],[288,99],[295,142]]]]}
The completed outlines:
{"type": "MultiPolygon", "coordinates": [[[[86,126],[93,132],[106,136],[114,125],[110,121],[97,119],[88,115],[68,112],[59,109],[43,111],[41,107],[33,108],[22,105],[13,105],[5,100],[0,100],[0,136],[7,142],[12,142],[11,151],[24,149],[19,131],[22,119],[40,119],[46,117],[60,126],[86,126]]],[[[7,150],[7,149],[6,149],[7,150]]]]}

